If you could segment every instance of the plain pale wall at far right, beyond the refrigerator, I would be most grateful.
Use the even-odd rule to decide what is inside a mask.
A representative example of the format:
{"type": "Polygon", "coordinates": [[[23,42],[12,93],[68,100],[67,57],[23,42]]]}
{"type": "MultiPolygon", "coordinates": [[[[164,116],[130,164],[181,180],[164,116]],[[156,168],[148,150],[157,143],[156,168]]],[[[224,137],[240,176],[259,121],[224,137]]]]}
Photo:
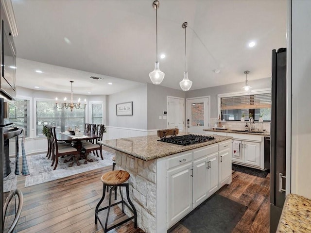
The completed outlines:
{"type": "Polygon", "coordinates": [[[292,1],[292,193],[311,199],[311,1],[292,1]]]}

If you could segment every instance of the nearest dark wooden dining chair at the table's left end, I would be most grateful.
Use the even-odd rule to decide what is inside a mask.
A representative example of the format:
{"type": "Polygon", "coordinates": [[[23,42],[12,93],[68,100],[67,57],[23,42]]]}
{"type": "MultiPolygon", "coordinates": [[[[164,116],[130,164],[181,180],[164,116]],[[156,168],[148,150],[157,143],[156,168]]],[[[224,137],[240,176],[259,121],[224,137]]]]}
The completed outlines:
{"type": "Polygon", "coordinates": [[[57,139],[56,139],[55,127],[52,127],[51,137],[52,137],[52,150],[53,150],[53,162],[51,166],[53,166],[55,163],[53,170],[55,170],[57,167],[59,156],[80,154],[80,151],[72,147],[71,144],[69,143],[58,145],[57,139]]]}

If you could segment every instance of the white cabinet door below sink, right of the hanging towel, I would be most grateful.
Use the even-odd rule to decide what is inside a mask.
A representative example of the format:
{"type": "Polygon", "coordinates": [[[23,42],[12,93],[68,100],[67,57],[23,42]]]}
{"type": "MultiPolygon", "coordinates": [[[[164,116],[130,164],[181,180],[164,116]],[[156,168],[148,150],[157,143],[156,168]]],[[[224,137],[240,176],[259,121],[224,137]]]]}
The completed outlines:
{"type": "Polygon", "coordinates": [[[244,141],[244,163],[260,166],[260,143],[244,141]]]}

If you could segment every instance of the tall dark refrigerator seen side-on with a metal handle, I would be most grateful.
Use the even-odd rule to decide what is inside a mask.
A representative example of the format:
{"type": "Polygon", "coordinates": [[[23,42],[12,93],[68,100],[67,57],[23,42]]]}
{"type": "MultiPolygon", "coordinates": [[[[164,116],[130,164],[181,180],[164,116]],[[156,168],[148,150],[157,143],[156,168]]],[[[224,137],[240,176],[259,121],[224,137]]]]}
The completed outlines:
{"type": "Polygon", "coordinates": [[[270,148],[270,233],[275,233],[285,201],[286,48],[272,50],[270,148]]]}

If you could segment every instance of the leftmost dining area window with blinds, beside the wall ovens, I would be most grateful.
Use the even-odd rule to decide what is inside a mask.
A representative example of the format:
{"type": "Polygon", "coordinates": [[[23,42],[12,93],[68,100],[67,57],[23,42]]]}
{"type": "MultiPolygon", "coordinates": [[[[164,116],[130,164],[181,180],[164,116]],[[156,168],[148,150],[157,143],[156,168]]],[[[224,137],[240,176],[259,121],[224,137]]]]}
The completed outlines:
{"type": "Polygon", "coordinates": [[[9,122],[14,123],[18,128],[25,129],[25,137],[30,133],[30,101],[17,99],[9,103],[9,122]]]}

